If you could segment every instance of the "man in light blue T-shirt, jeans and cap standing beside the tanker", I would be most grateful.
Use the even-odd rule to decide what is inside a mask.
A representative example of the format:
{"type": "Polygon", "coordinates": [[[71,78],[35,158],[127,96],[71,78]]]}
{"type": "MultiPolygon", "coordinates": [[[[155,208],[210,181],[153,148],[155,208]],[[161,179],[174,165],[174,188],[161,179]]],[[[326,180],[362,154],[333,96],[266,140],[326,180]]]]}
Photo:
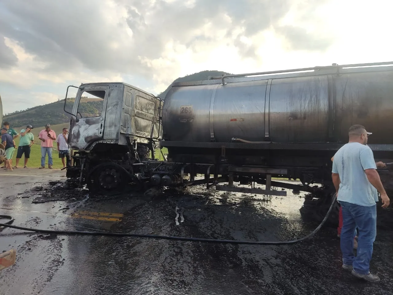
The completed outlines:
{"type": "Polygon", "coordinates": [[[342,267],[352,270],[355,277],[379,282],[380,278],[369,271],[376,237],[377,191],[381,194],[383,208],[389,206],[390,201],[376,171],[373,151],[367,146],[367,137],[370,134],[362,125],[349,128],[349,142],[334,155],[332,180],[337,201],[342,207],[342,267]],[[359,237],[355,257],[353,232],[356,227],[359,237]]]}

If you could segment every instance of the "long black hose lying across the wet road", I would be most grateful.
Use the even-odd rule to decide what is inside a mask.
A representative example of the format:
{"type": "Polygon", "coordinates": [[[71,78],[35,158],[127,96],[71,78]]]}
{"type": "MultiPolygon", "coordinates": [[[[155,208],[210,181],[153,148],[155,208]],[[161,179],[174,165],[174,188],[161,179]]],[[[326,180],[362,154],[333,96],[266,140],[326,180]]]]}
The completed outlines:
{"type": "Polygon", "coordinates": [[[0,223],[0,226],[10,227],[12,229],[20,229],[20,230],[28,230],[32,232],[42,232],[47,234],[82,234],[89,236],[116,236],[116,237],[137,237],[137,238],[154,238],[154,239],[164,239],[164,240],[180,240],[180,241],[189,241],[189,242],[208,242],[208,243],[230,243],[230,244],[248,244],[248,245],[286,245],[286,244],[294,244],[301,241],[304,241],[308,238],[311,238],[321,229],[322,225],[325,223],[327,218],[329,217],[330,212],[332,211],[334,204],[336,203],[336,198],[333,197],[332,204],[330,205],[329,210],[325,218],[321,221],[320,225],[316,229],[314,229],[310,234],[304,236],[303,238],[299,238],[293,241],[284,241],[284,242],[253,242],[253,241],[236,241],[236,240],[219,240],[219,239],[202,239],[202,238],[186,238],[186,237],[176,237],[176,236],[163,236],[159,234],[129,234],[129,233],[120,233],[120,232],[87,232],[87,231],[79,231],[79,230],[48,230],[48,229],[30,229],[27,227],[18,227],[15,225],[9,225],[14,219],[10,215],[0,215],[0,217],[11,218],[11,221],[7,223],[0,223]]]}

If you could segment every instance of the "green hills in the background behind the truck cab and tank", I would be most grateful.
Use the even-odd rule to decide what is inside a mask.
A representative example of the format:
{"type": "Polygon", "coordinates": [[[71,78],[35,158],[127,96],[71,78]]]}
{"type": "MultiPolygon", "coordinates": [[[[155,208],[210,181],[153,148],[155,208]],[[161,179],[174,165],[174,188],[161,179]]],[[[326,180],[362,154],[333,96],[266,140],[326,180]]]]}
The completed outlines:
{"type": "MultiPolygon", "coordinates": [[[[179,77],[174,80],[173,83],[207,80],[209,76],[222,76],[224,74],[228,73],[216,70],[206,70],[184,77],[179,77]]],[[[158,96],[164,99],[169,89],[171,89],[171,85],[169,85],[168,88],[165,91],[161,92],[158,96]]],[[[73,101],[74,100],[72,98],[67,98],[67,110],[72,109],[73,101]]],[[[101,99],[97,100],[94,98],[86,97],[79,105],[79,111],[84,116],[88,116],[88,114],[91,114],[91,116],[97,116],[102,110],[101,101],[101,99]]],[[[46,105],[38,105],[37,107],[32,107],[23,111],[16,111],[10,114],[6,114],[5,116],[3,116],[3,122],[8,121],[13,128],[26,127],[26,125],[30,124],[33,125],[35,131],[37,130],[37,126],[45,126],[45,124],[57,125],[67,123],[66,125],[68,127],[70,116],[64,112],[63,107],[64,100],[55,101],[46,105]]]]}

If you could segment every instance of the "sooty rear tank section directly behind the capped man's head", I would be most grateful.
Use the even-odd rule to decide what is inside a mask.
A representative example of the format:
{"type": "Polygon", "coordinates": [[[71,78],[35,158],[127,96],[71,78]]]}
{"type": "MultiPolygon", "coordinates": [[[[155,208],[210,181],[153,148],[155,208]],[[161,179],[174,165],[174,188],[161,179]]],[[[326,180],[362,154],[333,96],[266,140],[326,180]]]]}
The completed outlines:
{"type": "Polygon", "coordinates": [[[333,75],[335,133],[348,141],[348,128],[363,125],[373,134],[369,144],[391,144],[393,134],[393,71],[333,75]]]}

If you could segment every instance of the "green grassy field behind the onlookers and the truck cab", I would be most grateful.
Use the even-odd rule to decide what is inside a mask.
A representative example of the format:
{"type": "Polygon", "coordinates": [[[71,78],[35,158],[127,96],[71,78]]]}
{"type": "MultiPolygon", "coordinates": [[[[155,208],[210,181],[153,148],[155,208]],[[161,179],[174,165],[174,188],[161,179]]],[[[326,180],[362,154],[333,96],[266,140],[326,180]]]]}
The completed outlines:
{"type": "MultiPolygon", "coordinates": [[[[68,126],[69,126],[68,123],[57,124],[57,125],[52,125],[51,129],[53,131],[55,131],[56,136],[58,136],[59,134],[62,133],[62,129],[64,127],[68,128],[68,126]]],[[[14,128],[14,129],[20,134],[20,130],[23,128],[14,128]]],[[[39,168],[41,166],[41,141],[38,139],[38,135],[42,129],[44,129],[44,127],[37,127],[31,131],[34,135],[35,144],[33,144],[31,146],[30,159],[27,164],[27,166],[30,168],[39,168]]],[[[20,136],[15,140],[15,144],[17,146],[19,144],[19,140],[20,140],[20,136]]],[[[165,155],[168,153],[168,150],[164,147],[162,149],[162,152],[165,155]]],[[[162,157],[159,149],[157,149],[155,151],[154,155],[155,155],[156,159],[163,160],[163,157],[162,157]]],[[[15,150],[14,156],[13,156],[13,160],[12,160],[13,166],[15,166],[16,157],[17,157],[17,150],[15,150]]],[[[52,158],[53,158],[53,168],[55,168],[55,169],[63,168],[63,164],[61,163],[61,159],[59,158],[59,153],[57,152],[56,143],[53,144],[52,158]]],[[[19,167],[23,168],[23,165],[24,165],[24,156],[22,156],[22,159],[19,160],[19,167]]],[[[45,167],[48,168],[48,155],[46,156],[45,167]]]]}

